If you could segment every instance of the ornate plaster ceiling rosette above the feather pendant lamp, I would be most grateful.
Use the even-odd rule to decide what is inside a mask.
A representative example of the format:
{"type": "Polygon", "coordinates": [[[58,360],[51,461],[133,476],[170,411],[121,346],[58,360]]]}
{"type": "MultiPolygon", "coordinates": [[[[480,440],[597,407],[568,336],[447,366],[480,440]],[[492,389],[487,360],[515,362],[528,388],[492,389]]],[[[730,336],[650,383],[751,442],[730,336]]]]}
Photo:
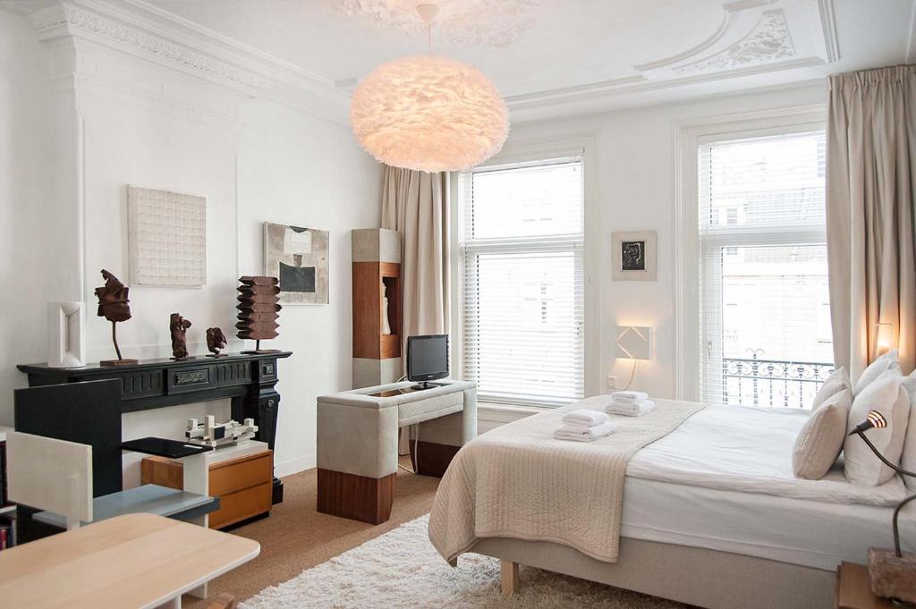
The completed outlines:
{"type": "Polygon", "coordinates": [[[417,36],[426,30],[417,13],[417,5],[421,4],[434,4],[440,9],[433,26],[434,38],[465,47],[503,48],[534,26],[531,13],[540,0],[342,0],[334,2],[333,8],[368,25],[417,36]]]}

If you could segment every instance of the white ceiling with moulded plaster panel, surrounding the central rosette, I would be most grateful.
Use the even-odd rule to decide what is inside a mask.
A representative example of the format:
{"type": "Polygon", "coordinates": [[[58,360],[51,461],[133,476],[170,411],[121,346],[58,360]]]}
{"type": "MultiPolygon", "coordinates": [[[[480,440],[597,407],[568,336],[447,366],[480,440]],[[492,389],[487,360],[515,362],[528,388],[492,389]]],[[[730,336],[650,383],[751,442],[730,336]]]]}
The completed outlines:
{"type": "MultiPolygon", "coordinates": [[[[96,9],[123,6],[186,33],[256,49],[294,67],[300,86],[304,79],[313,92],[326,90],[343,103],[354,83],[379,62],[427,49],[423,35],[344,16],[344,0],[72,1],[96,9]]],[[[447,5],[501,1],[442,0],[447,5]]],[[[433,32],[434,52],[489,75],[507,96],[514,120],[916,62],[916,0],[530,2],[536,5],[526,16],[530,27],[519,29],[518,39],[505,47],[460,46],[442,35],[437,40],[433,32]]],[[[481,20],[479,26],[491,24],[481,20]]]]}

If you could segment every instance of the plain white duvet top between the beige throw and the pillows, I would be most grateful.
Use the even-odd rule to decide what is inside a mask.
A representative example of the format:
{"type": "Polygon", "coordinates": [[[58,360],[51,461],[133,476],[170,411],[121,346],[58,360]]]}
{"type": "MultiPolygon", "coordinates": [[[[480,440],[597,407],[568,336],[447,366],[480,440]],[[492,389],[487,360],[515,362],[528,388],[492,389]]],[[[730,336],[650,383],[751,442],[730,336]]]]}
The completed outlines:
{"type": "Polygon", "coordinates": [[[822,480],[795,478],[792,445],[807,418],[789,408],[703,408],[633,455],[627,476],[836,504],[896,506],[906,496],[899,476],[880,486],[846,482],[842,461],[822,480]]]}

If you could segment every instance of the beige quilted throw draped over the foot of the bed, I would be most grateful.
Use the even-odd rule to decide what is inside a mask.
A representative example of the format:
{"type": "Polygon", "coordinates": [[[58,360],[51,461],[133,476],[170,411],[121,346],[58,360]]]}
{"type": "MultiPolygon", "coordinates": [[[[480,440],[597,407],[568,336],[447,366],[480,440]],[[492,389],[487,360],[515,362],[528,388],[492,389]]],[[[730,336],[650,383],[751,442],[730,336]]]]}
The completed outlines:
{"type": "Polygon", "coordinates": [[[432,504],[430,539],[445,560],[479,538],[552,541],[586,556],[616,562],[627,462],[703,408],[655,400],[642,417],[612,416],[617,430],[593,442],[554,440],[563,414],[604,410],[609,397],[509,423],[464,445],[432,504]]]}

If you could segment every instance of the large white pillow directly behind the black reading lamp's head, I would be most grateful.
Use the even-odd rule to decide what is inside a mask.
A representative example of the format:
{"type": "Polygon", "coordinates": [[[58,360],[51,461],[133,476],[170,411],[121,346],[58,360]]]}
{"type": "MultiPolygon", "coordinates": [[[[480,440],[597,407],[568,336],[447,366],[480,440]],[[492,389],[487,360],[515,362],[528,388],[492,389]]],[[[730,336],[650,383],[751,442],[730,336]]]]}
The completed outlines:
{"type": "MultiPolygon", "coordinates": [[[[849,409],[846,433],[867,419],[869,410],[878,410],[888,420],[883,430],[867,430],[866,437],[884,458],[895,465],[900,463],[903,440],[910,419],[910,397],[903,388],[900,373],[889,370],[869,383],[853,400],[849,409]]],[[[880,462],[858,435],[846,436],[843,442],[846,480],[863,486],[877,486],[888,482],[894,471],[880,462]]]]}

